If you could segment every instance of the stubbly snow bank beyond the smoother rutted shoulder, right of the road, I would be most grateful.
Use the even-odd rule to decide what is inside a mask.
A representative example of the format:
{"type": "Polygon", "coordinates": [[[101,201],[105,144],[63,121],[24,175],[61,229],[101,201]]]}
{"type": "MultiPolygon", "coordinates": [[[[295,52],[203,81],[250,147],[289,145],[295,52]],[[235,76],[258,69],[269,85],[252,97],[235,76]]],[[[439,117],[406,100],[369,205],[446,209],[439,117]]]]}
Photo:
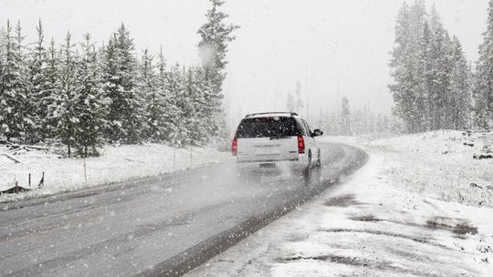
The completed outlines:
{"type": "MultiPolygon", "coordinates": [[[[360,141],[362,142],[362,141],[360,141]]],[[[493,206],[493,133],[435,131],[360,143],[383,155],[387,184],[436,200],[493,206]]]]}

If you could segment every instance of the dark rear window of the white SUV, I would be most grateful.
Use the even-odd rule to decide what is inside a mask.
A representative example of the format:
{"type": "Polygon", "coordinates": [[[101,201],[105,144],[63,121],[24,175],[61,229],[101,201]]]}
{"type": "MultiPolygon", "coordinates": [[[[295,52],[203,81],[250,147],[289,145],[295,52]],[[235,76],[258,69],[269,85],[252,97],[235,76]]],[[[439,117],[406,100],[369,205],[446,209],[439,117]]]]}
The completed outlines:
{"type": "Polygon", "coordinates": [[[295,118],[245,118],[236,130],[237,139],[276,138],[301,136],[295,118]]]}

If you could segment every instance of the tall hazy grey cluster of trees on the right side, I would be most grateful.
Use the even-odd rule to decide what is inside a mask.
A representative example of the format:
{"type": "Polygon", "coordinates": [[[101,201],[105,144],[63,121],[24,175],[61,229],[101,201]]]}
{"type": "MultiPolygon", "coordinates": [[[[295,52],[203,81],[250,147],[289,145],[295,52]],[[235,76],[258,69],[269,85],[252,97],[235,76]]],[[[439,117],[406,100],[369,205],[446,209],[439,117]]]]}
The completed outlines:
{"type": "Polygon", "coordinates": [[[493,119],[493,0],[488,32],[474,73],[460,41],[450,36],[435,8],[405,2],[395,28],[389,86],[394,114],[407,132],[488,128],[493,119]],[[488,56],[489,55],[489,56],[488,56]]]}

